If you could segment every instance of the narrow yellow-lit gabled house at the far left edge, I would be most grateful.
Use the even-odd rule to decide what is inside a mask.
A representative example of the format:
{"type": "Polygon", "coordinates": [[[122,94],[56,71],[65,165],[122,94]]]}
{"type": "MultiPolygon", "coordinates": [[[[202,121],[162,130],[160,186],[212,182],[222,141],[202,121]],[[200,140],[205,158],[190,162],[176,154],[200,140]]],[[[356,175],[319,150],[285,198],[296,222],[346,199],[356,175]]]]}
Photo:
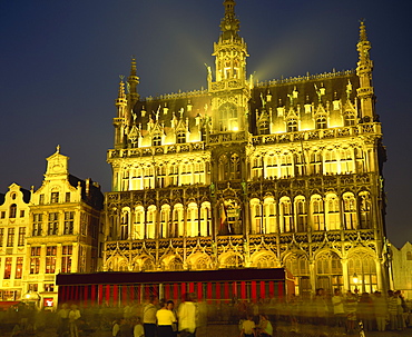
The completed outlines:
{"type": "Polygon", "coordinates": [[[30,191],[12,184],[0,197],[0,300],[19,300],[24,294],[22,280],[30,191]]]}

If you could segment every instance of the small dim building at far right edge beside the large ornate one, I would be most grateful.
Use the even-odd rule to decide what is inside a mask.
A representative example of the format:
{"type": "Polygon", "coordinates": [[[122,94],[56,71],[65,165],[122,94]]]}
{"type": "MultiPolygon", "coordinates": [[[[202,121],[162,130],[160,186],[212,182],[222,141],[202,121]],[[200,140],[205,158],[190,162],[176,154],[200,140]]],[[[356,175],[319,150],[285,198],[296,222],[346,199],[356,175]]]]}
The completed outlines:
{"type": "Polygon", "coordinates": [[[408,241],[400,249],[394,246],[391,248],[392,287],[412,299],[412,244],[408,241]]]}

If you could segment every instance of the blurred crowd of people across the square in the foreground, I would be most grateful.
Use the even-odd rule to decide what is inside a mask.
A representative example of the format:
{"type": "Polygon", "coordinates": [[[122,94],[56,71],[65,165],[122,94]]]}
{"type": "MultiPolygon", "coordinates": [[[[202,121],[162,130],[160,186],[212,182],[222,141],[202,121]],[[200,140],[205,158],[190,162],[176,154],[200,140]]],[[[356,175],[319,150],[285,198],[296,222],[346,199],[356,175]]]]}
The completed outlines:
{"type": "Polygon", "coordinates": [[[180,303],[149,296],[122,307],[61,304],[56,313],[28,313],[20,307],[14,313],[21,317],[13,336],[41,325],[56,328],[59,337],[195,337],[196,330],[210,324],[238,325],[243,337],[272,336],[278,324],[295,333],[315,325],[349,335],[357,331],[360,323],[366,331],[412,327],[411,306],[401,291],[392,290],[371,295],[335,289],[330,294],[320,288],[312,297],[199,301],[194,294],[186,294],[180,303]]]}

